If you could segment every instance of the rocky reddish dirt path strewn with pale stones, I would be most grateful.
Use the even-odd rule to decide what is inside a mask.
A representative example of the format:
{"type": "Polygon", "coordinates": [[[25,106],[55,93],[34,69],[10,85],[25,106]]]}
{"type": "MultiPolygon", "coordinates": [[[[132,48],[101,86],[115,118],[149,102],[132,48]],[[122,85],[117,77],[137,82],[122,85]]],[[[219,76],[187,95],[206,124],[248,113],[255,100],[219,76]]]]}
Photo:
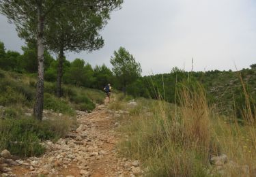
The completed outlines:
{"type": "Polygon", "coordinates": [[[78,112],[79,128],[55,144],[45,142],[42,157],[16,160],[8,176],[143,176],[139,161],[119,157],[115,116],[106,106],[78,112]]]}

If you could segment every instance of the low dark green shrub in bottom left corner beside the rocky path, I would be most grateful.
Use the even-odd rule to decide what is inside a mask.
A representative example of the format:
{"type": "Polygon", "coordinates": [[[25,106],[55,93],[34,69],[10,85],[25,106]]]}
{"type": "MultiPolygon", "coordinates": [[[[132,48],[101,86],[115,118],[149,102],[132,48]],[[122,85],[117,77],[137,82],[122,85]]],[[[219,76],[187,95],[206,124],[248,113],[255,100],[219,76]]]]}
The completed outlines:
{"type": "Polygon", "coordinates": [[[38,156],[44,152],[37,131],[40,123],[32,118],[0,120],[1,150],[6,148],[20,157],[38,156]]]}

